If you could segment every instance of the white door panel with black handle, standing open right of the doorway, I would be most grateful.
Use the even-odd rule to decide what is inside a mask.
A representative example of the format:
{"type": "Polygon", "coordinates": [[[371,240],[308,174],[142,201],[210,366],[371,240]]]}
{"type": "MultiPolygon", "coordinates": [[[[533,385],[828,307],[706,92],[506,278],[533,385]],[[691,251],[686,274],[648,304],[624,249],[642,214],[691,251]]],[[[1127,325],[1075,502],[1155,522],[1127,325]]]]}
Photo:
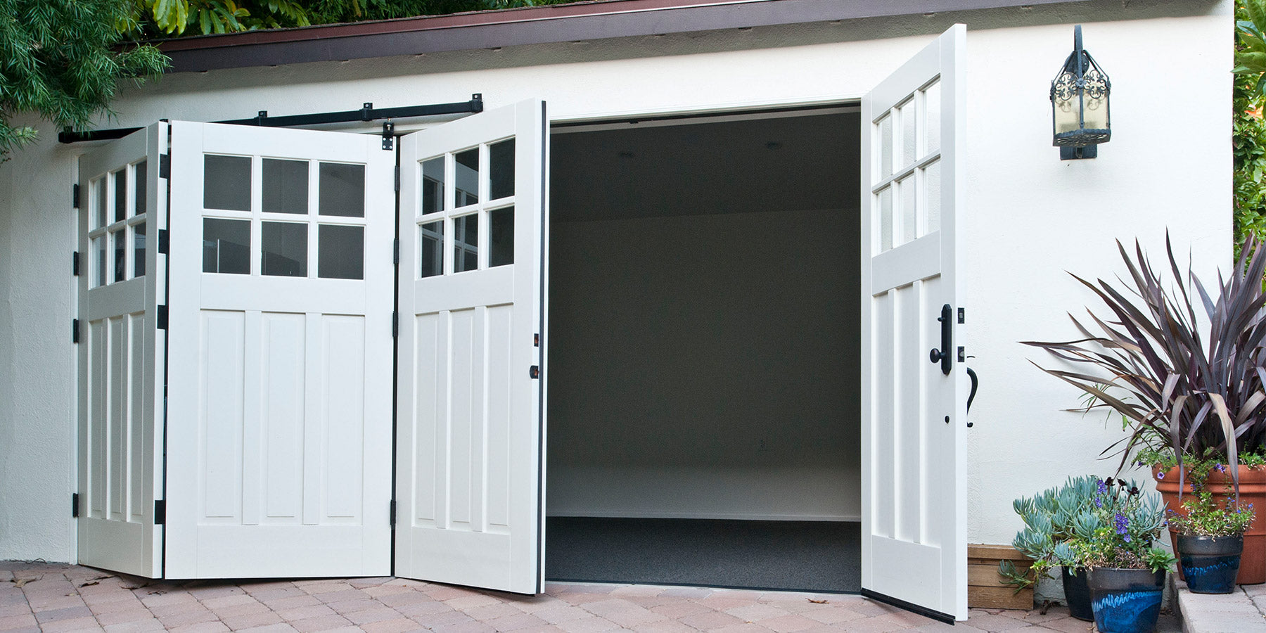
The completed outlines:
{"type": "Polygon", "coordinates": [[[965,37],[937,38],[861,116],[862,592],[942,619],[967,617],[965,37]]]}

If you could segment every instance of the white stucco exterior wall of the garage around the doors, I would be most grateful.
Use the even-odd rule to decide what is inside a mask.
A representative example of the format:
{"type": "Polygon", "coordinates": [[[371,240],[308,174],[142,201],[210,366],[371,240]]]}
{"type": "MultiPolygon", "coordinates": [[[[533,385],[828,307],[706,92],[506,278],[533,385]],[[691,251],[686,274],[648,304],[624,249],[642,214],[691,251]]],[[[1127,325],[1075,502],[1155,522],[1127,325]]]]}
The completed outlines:
{"type": "MultiPolygon", "coordinates": [[[[181,73],[124,91],[118,119],[218,120],[528,97],[555,120],[860,97],[951,24],[967,35],[968,353],[981,379],[970,432],[971,542],[1006,543],[1013,498],[1106,472],[1115,437],[1060,413],[1077,396],[1019,339],[1071,338],[1089,298],[1065,275],[1118,270],[1113,239],[1169,228],[1199,270],[1231,252],[1229,0],[1087,1],[961,14],[577,42],[389,60],[181,73]],[[1112,143],[1094,161],[1050,147],[1050,78],[1071,24],[1113,78],[1112,143]]],[[[404,129],[403,127],[400,129],[404,129]]],[[[84,147],[41,144],[0,166],[0,558],[75,556],[70,184],[84,147]]]]}

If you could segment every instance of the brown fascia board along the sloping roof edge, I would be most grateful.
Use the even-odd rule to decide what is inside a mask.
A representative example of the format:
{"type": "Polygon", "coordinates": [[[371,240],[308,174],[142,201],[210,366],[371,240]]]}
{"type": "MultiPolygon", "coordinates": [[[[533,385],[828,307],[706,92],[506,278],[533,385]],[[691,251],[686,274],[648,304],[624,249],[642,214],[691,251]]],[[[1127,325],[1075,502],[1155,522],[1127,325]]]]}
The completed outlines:
{"type": "Polygon", "coordinates": [[[1081,0],[605,0],[201,35],[158,43],[170,72],[851,20],[1081,0]]]}

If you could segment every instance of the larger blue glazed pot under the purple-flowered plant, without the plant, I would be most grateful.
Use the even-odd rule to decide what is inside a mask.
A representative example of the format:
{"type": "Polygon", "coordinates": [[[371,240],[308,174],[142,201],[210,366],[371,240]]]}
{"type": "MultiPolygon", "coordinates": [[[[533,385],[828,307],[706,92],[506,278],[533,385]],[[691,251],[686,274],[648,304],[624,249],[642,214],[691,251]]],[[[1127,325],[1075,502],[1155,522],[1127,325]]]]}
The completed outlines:
{"type": "Polygon", "coordinates": [[[1095,567],[1086,575],[1099,633],[1151,633],[1161,615],[1165,571],[1095,567]]]}

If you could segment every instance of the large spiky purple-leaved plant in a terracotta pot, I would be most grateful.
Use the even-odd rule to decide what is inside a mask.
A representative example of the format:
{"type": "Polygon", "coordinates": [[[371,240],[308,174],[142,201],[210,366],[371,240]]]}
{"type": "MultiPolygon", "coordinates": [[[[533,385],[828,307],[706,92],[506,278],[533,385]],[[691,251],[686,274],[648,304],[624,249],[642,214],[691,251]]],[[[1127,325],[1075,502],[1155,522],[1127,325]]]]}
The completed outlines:
{"type": "MultiPolygon", "coordinates": [[[[1153,465],[1170,509],[1181,510],[1194,470],[1204,468],[1201,460],[1210,456],[1215,462],[1208,465],[1220,463],[1224,472],[1204,470],[1209,481],[1222,476],[1232,496],[1261,506],[1266,468],[1241,466],[1241,460],[1260,462],[1266,442],[1266,248],[1244,243],[1233,273],[1219,276],[1210,292],[1190,267],[1180,272],[1167,238],[1169,282],[1137,242],[1133,254],[1117,246],[1128,271],[1123,289],[1075,276],[1110,316],[1091,313],[1094,333],[1074,318],[1082,334],[1076,341],[1025,344],[1074,366],[1043,371],[1091,398],[1080,410],[1108,408],[1122,417],[1128,434],[1105,453],[1119,449],[1118,472],[1132,462],[1153,465]]],[[[1244,533],[1241,584],[1266,582],[1266,522],[1260,523],[1244,533]]]]}

